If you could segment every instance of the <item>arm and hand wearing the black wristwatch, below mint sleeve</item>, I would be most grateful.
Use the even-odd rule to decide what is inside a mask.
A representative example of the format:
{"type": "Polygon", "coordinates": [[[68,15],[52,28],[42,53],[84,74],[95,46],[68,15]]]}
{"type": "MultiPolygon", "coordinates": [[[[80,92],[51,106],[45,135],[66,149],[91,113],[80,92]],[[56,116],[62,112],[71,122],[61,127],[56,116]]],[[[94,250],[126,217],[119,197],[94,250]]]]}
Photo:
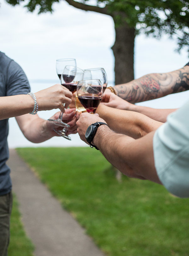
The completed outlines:
{"type": "MultiPolygon", "coordinates": [[[[87,127],[96,121],[104,122],[100,117],[89,113],[80,115],[77,121],[77,131],[83,141],[86,142],[85,131],[87,127]]],[[[151,132],[135,140],[111,131],[106,125],[101,125],[97,129],[92,143],[123,174],[129,177],[149,179],[161,184],[154,166],[153,135],[154,132],[151,132]]]]}

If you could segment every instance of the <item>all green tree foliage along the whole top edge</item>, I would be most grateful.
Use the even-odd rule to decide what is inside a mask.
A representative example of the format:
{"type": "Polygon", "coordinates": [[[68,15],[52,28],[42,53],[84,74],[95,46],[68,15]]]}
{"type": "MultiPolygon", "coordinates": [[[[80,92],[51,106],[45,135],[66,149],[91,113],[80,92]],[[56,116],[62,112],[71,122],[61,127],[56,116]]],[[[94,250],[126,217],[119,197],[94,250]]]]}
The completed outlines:
{"type": "MultiPolygon", "coordinates": [[[[6,0],[12,5],[26,2],[27,0],[6,0]]],[[[66,0],[75,6],[76,1],[66,0]]],[[[36,8],[38,13],[52,12],[52,5],[59,0],[29,0],[25,7],[33,12],[36,8]]],[[[82,5],[77,8],[92,10],[88,5],[90,0],[83,0],[82,5]],[[82,7],[83,6],[83,7],[82,7]]],[[[183,47],[189,48],[189,2],[185,0],[96,0],[101,12],[113,17],[116,26],[126,22],[134,27],[136,34],[145,33],[160,38],[163,33],[175,36],[178,43],[178,51],[183,47]],[[104,7],[100,7],[103,5],[104,7]]]]}

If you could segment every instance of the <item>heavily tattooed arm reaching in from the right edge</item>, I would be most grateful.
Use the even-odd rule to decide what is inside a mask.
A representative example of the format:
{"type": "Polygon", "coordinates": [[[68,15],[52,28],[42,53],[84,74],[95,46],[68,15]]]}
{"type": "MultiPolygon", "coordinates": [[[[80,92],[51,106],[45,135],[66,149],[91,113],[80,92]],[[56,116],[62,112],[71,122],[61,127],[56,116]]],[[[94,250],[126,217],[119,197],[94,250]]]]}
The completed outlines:
{"type": "Polygon", "coordinates": [[[114,89],[119,97],[132,103],[189,90],[189,66],[169,73],[148,74],[127,84],[116,85],[114,89]]]}

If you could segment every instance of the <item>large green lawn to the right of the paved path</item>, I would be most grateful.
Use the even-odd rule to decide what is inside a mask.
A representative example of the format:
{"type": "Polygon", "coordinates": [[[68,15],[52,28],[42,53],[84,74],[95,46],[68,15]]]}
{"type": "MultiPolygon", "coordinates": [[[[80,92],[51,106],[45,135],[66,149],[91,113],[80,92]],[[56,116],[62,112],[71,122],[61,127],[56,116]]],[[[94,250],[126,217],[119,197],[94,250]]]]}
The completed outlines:
{"type": "Polygon", "coordinates": [[[189,255],[189,199],[123,176],[94,148],[18,148],[107,255],[189,255]]]}

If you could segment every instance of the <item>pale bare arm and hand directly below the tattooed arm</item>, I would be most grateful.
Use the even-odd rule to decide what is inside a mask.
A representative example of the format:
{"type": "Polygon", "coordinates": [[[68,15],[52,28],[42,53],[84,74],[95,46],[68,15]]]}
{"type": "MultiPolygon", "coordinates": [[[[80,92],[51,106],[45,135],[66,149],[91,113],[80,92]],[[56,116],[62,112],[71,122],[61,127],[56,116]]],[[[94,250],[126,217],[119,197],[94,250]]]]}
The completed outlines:
{"type": "Polygon", "coordinates": [[[176,109],[156,109],[156,108],[148,108],[143,106],[134,105],[129,103],[114,93],[106,93],[103,96],[103,102],[105,106],[129,111],[135,111],[141,114],[144,114],[156,121],[166,122],[167,116],[174,112],[176,109]]]}

